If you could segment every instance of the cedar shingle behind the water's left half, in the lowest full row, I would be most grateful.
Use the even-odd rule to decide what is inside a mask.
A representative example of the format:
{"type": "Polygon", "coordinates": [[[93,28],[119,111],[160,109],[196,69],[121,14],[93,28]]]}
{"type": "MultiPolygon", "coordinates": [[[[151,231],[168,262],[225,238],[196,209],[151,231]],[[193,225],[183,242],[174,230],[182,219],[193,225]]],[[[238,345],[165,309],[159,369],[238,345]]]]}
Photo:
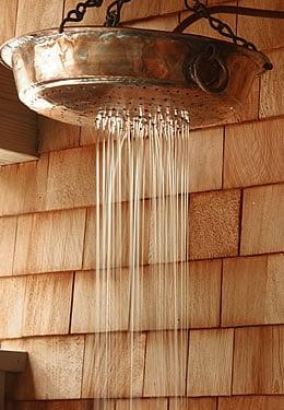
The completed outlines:
{"type": "Polygon", "coordinates": [[[144,333],[87,335],[82,397],[142,397],[144,353],[144,333]]]}

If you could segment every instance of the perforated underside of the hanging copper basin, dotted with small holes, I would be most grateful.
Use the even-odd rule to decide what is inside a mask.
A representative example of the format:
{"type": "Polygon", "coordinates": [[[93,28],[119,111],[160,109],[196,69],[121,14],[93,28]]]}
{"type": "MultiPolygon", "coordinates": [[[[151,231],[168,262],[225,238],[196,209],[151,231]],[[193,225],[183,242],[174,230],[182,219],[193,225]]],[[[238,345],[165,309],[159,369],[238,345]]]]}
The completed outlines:
{"type": "Polygon", "coordinates": [[[236,98],[205,94],[197,87],[57,82],[33,89],[21,99],[42,114],[79,126],[99,126],[104,119],[179,120],[191,128],[209,126],[234,116],[236,98]],[[39,108],[42,107],[42,109],[39,108]]]}

